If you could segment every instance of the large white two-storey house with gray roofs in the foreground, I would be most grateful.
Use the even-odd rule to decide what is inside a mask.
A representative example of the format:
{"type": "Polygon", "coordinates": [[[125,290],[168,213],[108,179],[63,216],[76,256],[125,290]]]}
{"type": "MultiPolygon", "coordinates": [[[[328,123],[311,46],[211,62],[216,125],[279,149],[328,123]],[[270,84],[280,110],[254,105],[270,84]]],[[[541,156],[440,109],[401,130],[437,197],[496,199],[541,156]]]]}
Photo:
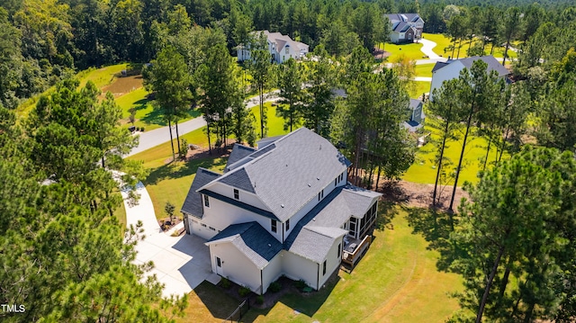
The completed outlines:
{"type": "Polygon", "coordinates": [[[382,195],[347,183],[351,163],[306,128],[236,144],[224,174],[198,168],[185,228],[207,239],[212,272],[263,294],[285,275],[320,289],[368,246],[382,195]]]}

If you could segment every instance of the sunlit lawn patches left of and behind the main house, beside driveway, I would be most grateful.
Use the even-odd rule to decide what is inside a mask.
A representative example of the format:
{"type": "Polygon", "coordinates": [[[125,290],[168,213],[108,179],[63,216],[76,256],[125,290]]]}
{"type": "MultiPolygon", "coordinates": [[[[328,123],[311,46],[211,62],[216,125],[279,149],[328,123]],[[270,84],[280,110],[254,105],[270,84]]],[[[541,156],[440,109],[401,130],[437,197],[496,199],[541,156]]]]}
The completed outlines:
{"type": "MultiPolygon", "coordinates": [[[[275,115],[275,107],[273,107],[271,103],[265,103],[265,107],[268,117],[268,137],[287,133],[288,131],[284,131],[284,120],[275,115]]],[[[257,134],[259,134],[259,107],[252,108],[252,112],[254,112],[257,119],[255,126],[257,134]]],[[[181,139],[186,139],[189,144],[204,148],[208,147],[208,139],[204,131],[205,127],[193,130],[181,136],[181,139]]],[[[176,144],[175,140],[174,143],[176,144]]],[[[158,219],[166,216],[164,214],[164,205],[166,202],[173,203],[176,206],[176,210],[180,210],[188,193],[188,189],[192,184],[194,175],[196,174],[196,169],[199,166],[217,172],[222,172],[224,166],[226,166],[225,158],[211,157],[193,159],[185,163],[181,161],[168,163],[172,158],[172,148],[170,147],[169,141],[129,158],[142,160],[144,167],[150,170],[150,175],[148,175],[148,178],[142,181],[142,183],[146,185],[158,219]]]]}

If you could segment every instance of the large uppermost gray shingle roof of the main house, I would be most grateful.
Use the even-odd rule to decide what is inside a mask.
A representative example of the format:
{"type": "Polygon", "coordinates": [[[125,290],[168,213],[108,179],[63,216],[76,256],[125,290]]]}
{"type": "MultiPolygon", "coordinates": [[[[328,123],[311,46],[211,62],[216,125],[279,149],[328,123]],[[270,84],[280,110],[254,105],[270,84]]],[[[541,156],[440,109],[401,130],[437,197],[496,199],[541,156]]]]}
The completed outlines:
{"type": "Polygon", "coordinates": [[[250,160],[202,189],[210,191],[211,184],[220,182],[255,193],[281,221],[290,219],[351,165],[327,139],[306,128],[294,130],[244,159],[250,160]]]}

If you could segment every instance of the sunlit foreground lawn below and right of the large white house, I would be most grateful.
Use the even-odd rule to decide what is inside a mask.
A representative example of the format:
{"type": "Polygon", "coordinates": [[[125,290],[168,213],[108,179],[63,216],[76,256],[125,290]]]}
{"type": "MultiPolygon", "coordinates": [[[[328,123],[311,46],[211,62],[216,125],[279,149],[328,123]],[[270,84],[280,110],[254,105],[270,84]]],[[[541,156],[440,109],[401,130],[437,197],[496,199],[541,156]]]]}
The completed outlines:
{"type": "MultiPolygon", "coordinates": [[[[437,270],[440,254],[410,225],[419,210],[392,208],[388,229],[375,239],[354,271],[340,271],[320,292],[284,294],[270,309],[249,310],[246,322],[444,322],[458,304],[451,292],[462,290],[461,278],[437,270]],[[392,229],[390,229],[392,228],[392,229]]],[[[190,317],[184,321],[218,322],[238,300],[205,283],[189,294],[190,317]],[[227,311],[226,311],[227,310],[227,311]]]]}

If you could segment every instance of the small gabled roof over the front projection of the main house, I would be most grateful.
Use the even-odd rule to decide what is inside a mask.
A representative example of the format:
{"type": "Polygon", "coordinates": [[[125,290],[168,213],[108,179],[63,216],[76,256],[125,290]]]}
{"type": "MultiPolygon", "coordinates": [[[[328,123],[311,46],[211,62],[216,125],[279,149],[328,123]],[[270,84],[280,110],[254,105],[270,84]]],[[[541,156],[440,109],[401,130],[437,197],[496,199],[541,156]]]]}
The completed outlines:
{"type": "Polygon", "coordinates": [[[282,250],[282,244],[257,222],[233,224],[206,243],[214,242],[233,244],[254,265],[257,265],[258,269],[266,267],[268,262],[282,250]]]}

